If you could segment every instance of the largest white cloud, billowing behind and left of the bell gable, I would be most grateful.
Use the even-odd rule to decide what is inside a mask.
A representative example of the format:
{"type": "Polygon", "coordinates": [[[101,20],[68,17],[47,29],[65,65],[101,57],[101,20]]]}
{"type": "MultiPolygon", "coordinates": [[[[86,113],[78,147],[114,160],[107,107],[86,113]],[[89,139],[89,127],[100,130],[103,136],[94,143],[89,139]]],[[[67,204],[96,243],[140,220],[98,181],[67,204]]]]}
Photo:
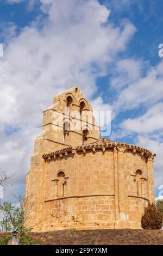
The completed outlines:
{"type": "MultiPolygon", "coordinates": [[[[97,76],[126,49],[135,32],[128,21],[120,27],[109,23],[110,11],[96,0],[41,3],[47,17],[12,36],[1,60],[0,159],[3,170],[16,172],[15,186],[25,182],[42,111],[52,97],[78,84],[90,100],[97,76]],[[20,129],[7,136],[6,125],[20,129]]],[[[101,97],[95,101],[109,106],[101,97]]]]}

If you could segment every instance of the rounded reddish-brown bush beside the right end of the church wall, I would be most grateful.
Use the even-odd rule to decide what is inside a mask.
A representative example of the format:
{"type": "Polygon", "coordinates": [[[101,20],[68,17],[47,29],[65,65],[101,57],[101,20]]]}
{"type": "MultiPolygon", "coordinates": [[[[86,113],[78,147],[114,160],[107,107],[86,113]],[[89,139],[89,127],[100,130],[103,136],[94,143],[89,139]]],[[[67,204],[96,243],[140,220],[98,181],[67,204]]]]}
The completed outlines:
{"type": "Polygon", "coordinates": [[[161,229],[163,217],[160,211],[156,208],[155,203],[148,202],[145,208],[145,213],[141,218],[141,227],[143,229],[161,229]]]}

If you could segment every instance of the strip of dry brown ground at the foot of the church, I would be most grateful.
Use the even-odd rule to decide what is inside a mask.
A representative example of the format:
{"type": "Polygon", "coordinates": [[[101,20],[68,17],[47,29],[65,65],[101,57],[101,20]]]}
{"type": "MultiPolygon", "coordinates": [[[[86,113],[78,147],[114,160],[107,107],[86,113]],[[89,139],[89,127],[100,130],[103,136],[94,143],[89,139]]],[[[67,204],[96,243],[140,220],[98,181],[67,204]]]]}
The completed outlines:
{"type": "Polygon", "coordinates": [[[30,236],[42,245],[163,245],[163,230],[60,230],[30,236]]]}

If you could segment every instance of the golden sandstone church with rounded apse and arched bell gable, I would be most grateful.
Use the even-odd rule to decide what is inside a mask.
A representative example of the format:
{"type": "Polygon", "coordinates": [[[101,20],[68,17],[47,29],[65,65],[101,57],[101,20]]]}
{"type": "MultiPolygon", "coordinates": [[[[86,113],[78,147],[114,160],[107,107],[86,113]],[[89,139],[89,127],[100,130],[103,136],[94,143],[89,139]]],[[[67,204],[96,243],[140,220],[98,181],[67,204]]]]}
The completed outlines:
{"type": "Polygon", "coordinates": [[[148,200],[154,201],[154,156],[100,138],[93,109],[79,88],[55,96],[43,111],[27,174],[26,227],[140,228],[148,200]]]}

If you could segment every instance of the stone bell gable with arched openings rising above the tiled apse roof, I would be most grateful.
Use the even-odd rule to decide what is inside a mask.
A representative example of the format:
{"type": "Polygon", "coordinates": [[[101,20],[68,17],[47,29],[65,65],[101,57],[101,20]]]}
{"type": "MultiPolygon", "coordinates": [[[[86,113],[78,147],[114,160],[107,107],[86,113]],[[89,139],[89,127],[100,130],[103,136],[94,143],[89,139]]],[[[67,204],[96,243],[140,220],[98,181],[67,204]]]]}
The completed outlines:
{"type": "Polygon", "coordinates": [[[43,112],[42,134],[49,151],[99,139],[92,107],[77,87],[53,98],[43,112]]]}

